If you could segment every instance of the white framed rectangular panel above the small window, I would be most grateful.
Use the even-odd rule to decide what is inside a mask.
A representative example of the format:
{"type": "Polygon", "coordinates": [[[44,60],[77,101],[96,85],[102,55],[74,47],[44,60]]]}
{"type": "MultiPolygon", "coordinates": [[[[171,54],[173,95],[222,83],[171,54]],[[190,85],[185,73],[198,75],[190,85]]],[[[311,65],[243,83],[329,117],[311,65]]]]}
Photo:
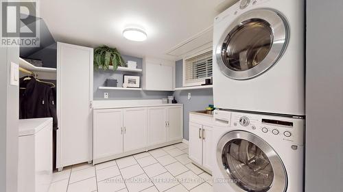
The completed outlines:
{"type": "Polygon", "coordinates": [[[211,46],[213,41],[213,26],[201,31],[200,33],[196,34],[192,38],[185,40],[184,42],[174,46],[172,49],[167,51],[167,55],[171,55],[174,57],[180,57],[184,55],[188,55],[194,51],[199,49],[208,48],[209,45],[211,46]]]}

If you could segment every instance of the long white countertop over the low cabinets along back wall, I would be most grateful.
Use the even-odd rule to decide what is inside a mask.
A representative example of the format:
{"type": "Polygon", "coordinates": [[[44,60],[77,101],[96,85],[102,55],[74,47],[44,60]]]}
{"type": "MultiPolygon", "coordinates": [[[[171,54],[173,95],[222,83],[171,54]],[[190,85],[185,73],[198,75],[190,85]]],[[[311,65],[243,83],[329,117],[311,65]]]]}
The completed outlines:
{"type": "Polygon", "coordinates": [[[161,99],[154,100],[94,100],[93,109],[115,109],[115,108],[130,108],[130,107],[159,107],[159,106],[175,106],[183,105],[180,103],[167,104],[161,99]]]}

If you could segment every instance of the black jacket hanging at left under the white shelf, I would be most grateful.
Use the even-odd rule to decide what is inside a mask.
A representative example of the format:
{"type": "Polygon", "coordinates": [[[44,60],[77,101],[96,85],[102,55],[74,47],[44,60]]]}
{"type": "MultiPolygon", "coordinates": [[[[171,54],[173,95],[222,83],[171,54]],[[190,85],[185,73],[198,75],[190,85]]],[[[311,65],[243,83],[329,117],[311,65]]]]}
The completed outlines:
{"type": "Polygon", "coordinates": [[[45,83],[36,81],[33,77],[30,80],[23,81],[25,77],[20,79],[19,91],[19,118],[53,118],[54,130],[58,129],[56,101],[54,88],[51,88],[45,83]]]}

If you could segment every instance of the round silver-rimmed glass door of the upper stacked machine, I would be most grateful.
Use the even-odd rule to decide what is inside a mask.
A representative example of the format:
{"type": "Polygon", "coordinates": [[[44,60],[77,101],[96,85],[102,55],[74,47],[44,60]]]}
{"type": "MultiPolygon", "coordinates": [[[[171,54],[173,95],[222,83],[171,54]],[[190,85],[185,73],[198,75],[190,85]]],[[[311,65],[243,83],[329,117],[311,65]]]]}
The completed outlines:
{"type": "Polygon", "coordinates": [[[252,10],[239,16],[224,31],[215,57],[231,79],[252,79],[271,68],[288,41],[287,23],[272,10],[252,10]]]}

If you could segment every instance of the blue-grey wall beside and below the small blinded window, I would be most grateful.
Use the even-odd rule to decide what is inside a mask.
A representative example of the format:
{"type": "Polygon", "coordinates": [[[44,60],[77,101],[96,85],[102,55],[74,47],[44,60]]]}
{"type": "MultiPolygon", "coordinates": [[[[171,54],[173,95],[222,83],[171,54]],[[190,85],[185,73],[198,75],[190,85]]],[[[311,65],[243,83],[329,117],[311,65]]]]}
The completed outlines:
{"type": "MultiPolygon", "coordinates": [[[[176,61],[176,87],[182,87],[182,60],[176,61]]],[[[189,139],[189,111],[202,111],[213,104],[213,90],[180,90],[174,92],[179,103],[183,103],[183,137],[189,139]],[[188,100],[188,93],[191,99],[188,100]]]]}

